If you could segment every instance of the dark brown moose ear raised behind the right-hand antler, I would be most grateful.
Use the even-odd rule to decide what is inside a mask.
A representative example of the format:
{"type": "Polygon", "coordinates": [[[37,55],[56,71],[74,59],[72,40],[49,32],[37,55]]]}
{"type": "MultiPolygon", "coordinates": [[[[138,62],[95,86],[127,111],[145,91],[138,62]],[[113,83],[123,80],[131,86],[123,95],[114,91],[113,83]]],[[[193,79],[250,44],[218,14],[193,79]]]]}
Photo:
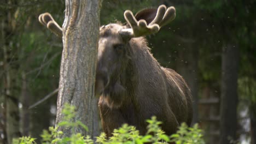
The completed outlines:
{"type": "Polygon", "coordinates": [[[137,21],[145,20],[147,24],[149,24],[155,19],[156,13],[158,13],[158,9],[143,9],[138,11],[135,18],[137,21]]]}

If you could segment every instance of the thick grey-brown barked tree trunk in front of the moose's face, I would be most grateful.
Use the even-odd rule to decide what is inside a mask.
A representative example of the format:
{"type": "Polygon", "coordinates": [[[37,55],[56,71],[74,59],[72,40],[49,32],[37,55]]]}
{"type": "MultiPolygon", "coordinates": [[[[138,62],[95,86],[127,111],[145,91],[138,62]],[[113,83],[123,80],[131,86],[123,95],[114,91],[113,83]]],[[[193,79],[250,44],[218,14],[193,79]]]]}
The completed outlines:
{"type": "MultiPolygon", "coordinates": [[[[61,59],[59,95],[57,99],[56,124],[62,121],[61,111],[65,103],[74,105],[77,116],[89,131],[76,128],[75,133],[92,136],[92,101],[97,60],[98,33],[100,27],[101,0],[66,0],[66,17],[63,23],[63,51],[61,59]]],[[[59,128],[63,136],[71,130],[59,128]]]]}

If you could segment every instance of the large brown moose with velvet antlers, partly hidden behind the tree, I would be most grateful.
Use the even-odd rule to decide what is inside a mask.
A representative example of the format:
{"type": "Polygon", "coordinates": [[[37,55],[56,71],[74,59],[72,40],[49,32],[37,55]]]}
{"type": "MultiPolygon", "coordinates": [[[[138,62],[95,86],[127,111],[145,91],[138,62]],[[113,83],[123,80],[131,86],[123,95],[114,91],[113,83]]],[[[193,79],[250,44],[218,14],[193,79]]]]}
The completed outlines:
{"type": "MultiPolygon", "coordinates": [[[[127,23],[100,27],[95,94],[102,128],[111,136],[115,128],[127,123],[147,132],[146,119],[156,116],[166,134],[188,125],[193,117],[190,89],[176,71],[161,67],[150,53],[145,35],[159,31],[176,16],[174,7],[143,9],[135,16],[126,10],[127,23]]],[[[62,28],[49,13],[39,21],[62,37],[62,28]]]]}

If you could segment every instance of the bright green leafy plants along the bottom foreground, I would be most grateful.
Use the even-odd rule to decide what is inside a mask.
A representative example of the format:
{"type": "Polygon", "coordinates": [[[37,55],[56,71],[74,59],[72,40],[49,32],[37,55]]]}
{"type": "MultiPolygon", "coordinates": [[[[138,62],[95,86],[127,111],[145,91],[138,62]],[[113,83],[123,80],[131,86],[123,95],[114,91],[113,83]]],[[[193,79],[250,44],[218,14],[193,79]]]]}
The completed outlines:
{"type": "MultiPolygon", "coordinates": [[[[74,133],[74,128],[83,127],[85,130],[88,128],[79,121],[73,122],[76,113],[75,107],[65,104],[64,109],[62,110],[63,121],[60,122],[57,127],[50,127],[48,130],[43,130],[42,143],[51,144],[51,143],[74,143],[74,144],[92,144],[94,141],[90,136],[82,136],[82,134],[74,133]],[[72,135],[70,137],[61,137],[63,135],[62,131],[57,130],[58,127],[65,127],[72,129],[72,135]]],[[[193,128],[189,128],[185,123],[182,123],[181,127],[176,134],[168,136],[165,132],[159,127],[162,122],[157,121],[156,117],[153,116],[151,119],[148,119],[148,131],[146,135],[139,135],[139,131],[134,127],[128,124],[124,124],[119,129],[114,129],[113,136],[107,139],[105,133],[101,133],[100,136],[96,137],[96,143],[168,143],[176,142],[178,144],[193,144],[193,143],[205,143],[202,139],[202,130],[198,128],[198,125],[195,124],[193,128]]],[[[15,144],[23,143],[36,143],[35,139],[31,137],[21,137],[14,140],[15,144]]]]}

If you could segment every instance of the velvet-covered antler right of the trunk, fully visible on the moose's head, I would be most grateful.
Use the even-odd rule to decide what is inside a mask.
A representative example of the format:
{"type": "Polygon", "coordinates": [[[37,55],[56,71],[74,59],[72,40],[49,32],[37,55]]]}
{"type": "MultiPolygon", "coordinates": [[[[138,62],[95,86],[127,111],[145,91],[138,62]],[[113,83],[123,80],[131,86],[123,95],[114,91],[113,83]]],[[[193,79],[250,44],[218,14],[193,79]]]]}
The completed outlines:
{"type": "Polygon", "coordinates": [[[131,28],[121,29],[121,35],[123,35],[124,37],[132,38],[156,33],[162,26],[174,20],[176,15],[174,7],[169,7],[168,9],[166,9],[165,5],[160,5],[157,12],[155,9],[146,9],[140,13],[143,14],[136,15],[145,15],[146,18],[149,17],[148,19],[150,19],[152,15],[155,15],[155,17],[152,21],[148,22],[149,24],[147,24],[147,21],[143,19],[143,16],[141,17],[142,19],[137,20],[137,17],[132,14],[132,11],[126,10],[124,13],[124,17],[131,28]]]}

